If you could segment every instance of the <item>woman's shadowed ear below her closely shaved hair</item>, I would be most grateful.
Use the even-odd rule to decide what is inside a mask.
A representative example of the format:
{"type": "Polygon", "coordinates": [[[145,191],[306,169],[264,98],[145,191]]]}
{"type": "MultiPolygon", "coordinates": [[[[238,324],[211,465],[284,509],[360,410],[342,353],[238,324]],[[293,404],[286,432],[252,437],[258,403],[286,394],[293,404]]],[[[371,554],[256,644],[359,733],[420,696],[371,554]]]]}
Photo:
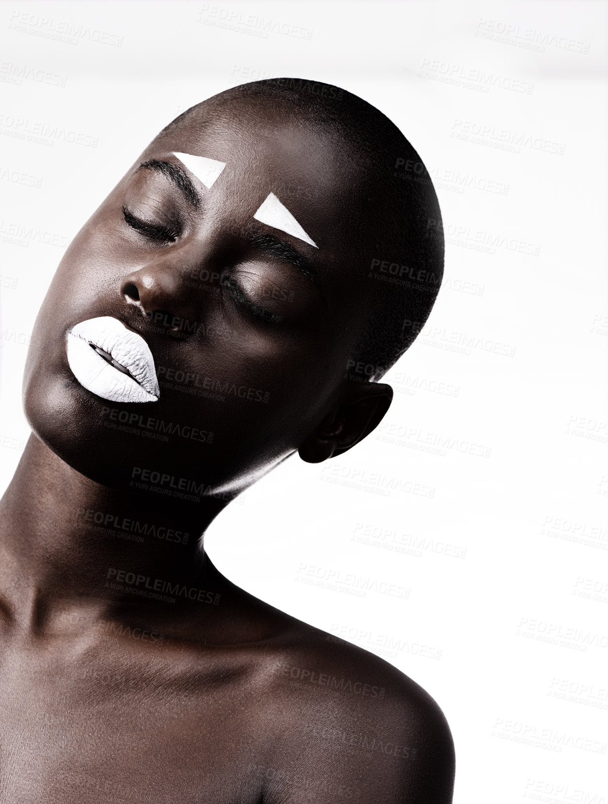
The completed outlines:
{"type": "Polygon", "coordinates": [[[351,383],[346,399],[336,404],[298,449],[302,461],[321,463],[362,441],[383,419],[392,388],[382,383],[351,383]]]}

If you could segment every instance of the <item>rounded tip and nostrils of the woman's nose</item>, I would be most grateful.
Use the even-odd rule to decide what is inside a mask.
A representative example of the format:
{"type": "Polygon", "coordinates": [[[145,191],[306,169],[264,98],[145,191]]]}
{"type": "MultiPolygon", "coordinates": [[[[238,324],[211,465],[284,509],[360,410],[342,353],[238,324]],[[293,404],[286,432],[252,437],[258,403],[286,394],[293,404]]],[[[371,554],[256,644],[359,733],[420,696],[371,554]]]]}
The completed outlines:
{"type": "Polygon", "coordinates": [[[156,326],[179,333],[198,328],[198,294],[189,292],[183,267],[167,265],[163,260],[133,271],[121,282],[121,296],[156,326]]]}

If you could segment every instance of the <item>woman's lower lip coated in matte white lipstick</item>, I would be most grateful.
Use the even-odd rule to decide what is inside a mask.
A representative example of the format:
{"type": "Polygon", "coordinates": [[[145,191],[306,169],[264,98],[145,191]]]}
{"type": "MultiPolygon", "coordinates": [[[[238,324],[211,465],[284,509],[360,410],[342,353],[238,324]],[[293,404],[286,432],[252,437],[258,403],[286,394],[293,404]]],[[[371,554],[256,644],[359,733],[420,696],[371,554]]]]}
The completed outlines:
{"type": "Polygon", "coordinates": [[[95,351],[95,344],[68,332],[66,351],[72,374],[80,385],[101,399],[110,402],[156,402],[158,397],[101,357],[95,351]]]}

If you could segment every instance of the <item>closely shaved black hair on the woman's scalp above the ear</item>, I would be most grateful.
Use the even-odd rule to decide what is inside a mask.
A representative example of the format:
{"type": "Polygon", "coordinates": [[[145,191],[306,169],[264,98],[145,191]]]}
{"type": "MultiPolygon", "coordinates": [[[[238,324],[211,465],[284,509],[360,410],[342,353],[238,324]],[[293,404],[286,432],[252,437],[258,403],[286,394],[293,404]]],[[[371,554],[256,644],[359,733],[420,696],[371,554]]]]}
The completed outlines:
{"type": "Polygon", "coordinates": [[[310,128],[331,145],[347,173],[343,184],[348,195],[355,193],[358,213],[349,268],[364,315],[345,369],[350,379],[379,379],[413,343],[442,280],[441,212],[429,174],[378,109],[342,88],[302,79],[255,81],[220,92],[177,117],[157,139],[185,125],[204,132],[218,121],[242,125],[260,118],[273,121],[283,138],[290,125],[310,128]],[[406,165],[416,171],[403,170],[406,165]]]}

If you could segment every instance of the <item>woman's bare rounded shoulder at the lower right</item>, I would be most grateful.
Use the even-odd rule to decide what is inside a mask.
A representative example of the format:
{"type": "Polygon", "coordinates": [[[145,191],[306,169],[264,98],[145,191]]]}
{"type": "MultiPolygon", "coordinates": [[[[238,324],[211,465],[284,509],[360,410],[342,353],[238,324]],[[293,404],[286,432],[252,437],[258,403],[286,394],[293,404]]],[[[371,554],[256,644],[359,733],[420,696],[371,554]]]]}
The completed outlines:
{"type": "Polygon", "coordinates": [[[279,733],[272,758],[257,769],[265,801],[450,804],[450,728],[419,684],[303,623],[278,655],[271,698],[279,733]]]}

